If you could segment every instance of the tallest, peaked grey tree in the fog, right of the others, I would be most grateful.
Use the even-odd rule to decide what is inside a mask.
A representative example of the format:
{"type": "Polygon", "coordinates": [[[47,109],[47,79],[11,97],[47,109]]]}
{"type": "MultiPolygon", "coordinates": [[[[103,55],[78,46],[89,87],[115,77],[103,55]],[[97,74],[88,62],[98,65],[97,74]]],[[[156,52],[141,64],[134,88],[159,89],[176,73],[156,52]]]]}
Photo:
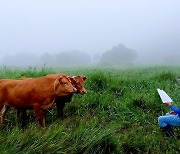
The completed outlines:
{"type": "Polygon", "coordinates": [[[137,53],[134,50],[125,47],[123,44],[119,44],[103,53],[100,63],[113,65],[132,64],[136,57],[137,53]]]}

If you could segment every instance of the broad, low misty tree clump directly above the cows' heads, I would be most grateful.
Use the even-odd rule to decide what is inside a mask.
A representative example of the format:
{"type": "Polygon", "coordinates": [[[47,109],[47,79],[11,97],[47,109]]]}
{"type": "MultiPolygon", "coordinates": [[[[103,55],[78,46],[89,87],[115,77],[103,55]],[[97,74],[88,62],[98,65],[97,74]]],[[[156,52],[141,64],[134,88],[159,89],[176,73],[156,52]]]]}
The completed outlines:
{"type": "Polygon", "coordinates": [[[76,50],[61,52],[55,56],[55,63],[60,66],[87,65],[90,62],[91,57],[89,54],[76,50]]]}

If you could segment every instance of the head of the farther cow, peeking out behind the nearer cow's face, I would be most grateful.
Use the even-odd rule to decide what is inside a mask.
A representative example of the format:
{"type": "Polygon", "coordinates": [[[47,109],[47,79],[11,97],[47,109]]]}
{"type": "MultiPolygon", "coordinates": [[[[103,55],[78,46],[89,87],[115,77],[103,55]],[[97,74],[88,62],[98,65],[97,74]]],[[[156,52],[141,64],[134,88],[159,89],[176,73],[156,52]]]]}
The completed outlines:
{"type": "Polygon", "coordinates": [[[86,89],[84,88],[84,81],[87,78],[85,76],[73,76],[71,82],[73,86],[77,89],[77,93],[86,94],[86,89]]]}

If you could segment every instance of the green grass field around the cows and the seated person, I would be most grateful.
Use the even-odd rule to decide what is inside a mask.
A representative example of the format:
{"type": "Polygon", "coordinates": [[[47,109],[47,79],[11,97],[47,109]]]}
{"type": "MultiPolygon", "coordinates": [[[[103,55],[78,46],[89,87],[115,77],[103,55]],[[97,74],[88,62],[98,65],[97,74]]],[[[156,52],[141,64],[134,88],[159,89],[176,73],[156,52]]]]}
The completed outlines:
{"type": "MultiPolygon", "coordinates": [[[[11,110],[0,131],[0,153],[180,153],[180,139],[167,138],[157,118],[170,111],[156,89],[164,89],[180,106],[180,67],[134,68],[1,68],[0,78],[37,77],[49,73],[86,75],[86,95],[67,103],[64,118],[56,109],[40,128],[32,111],[25,130],[17,126],[11,110]]],[[[180,132],[174,129],[177,138],[180,132]]]]}

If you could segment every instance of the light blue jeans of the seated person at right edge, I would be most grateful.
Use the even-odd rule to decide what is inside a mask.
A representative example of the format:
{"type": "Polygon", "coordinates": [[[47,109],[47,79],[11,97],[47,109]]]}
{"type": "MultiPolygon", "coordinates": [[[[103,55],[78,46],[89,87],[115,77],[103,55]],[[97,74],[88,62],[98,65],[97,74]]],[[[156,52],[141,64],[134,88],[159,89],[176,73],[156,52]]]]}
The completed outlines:
{"type": "Polygon", "coordinates": [[[158,118],[158,123],[160,127],[165,127],[167,125],[180,126],[180,116],[178,114],[166,113],[164,116],[158,118]]]}

